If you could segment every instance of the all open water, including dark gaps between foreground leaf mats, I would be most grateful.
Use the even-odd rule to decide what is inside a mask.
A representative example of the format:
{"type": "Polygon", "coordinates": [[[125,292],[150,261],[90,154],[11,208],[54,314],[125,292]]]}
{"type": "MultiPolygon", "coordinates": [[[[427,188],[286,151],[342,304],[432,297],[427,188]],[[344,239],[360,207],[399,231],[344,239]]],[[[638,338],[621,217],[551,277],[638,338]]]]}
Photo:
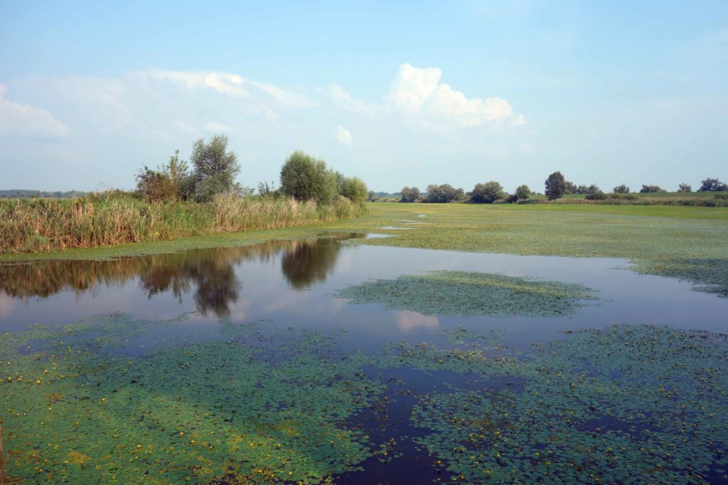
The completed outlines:
{"type": "MultiPolygon", "coordinates": [[[[454,344],[443,330],[496,330],[505,346],[520,350],[526,358],[533,351],[533,342],[563,340],[569,335],[563,331],[604,329],[612,324],[654,323],[676,329],[728,332],[728,299],[692,291],[684,281],[635,273],[628,270],[630,263],[625,260],[357,244],[365,237],[336,234],[111,261],[0,265],[0,332],[19,332],[33,323],[60,326],[114,312],[149,321],[185,314],[184,321],[174,326],[147,326],[114,352],[144,356],[174,345],[225,340],[218,322],[229,319],[333,332],[342,348],[365,353],[376,353],[388,342],[401,340],[452,348],[454,344]],[[397,278],[427,270],[502,273],[583,284],[596,290],[598,300],[587,302],[569,318],[465,318],[385,310],[379,305],[350,305],[348,300],[336,297],[338,290],[370,278],[397,278]]],[[[26,350],[34,352],[42,345],[33,342],[26,350]]],[[[270,359],[276,361],[274,353],[270,359]]],[[[338,478],[340,483],[425,483],[457,476],[446,471],[445,464],[433,467],[434,457],[411,441],[428,434],[428,430],[409,422],[413,406],[418,403],[416,396],[446,392],[448,386],[463,390],[523,387],[518,377],[494,378],[485,386],[483,377],[446,369],[372,366],[365,369],[365,374],[387,386],[384,396],[388,400],[379,409],[355,413],[349,417],[349,425],[363,430],[373,443],[384,444],[397,438],[398,444],[392,450],[402,456],[386,462],[371,457],[362,464],[364,472],[344,473],[338,478]],[[381,416],[387,416],[384,428],[381,416]]],[[[723,483],[721,473],[710,473],[710,481],[723,483]]]]}

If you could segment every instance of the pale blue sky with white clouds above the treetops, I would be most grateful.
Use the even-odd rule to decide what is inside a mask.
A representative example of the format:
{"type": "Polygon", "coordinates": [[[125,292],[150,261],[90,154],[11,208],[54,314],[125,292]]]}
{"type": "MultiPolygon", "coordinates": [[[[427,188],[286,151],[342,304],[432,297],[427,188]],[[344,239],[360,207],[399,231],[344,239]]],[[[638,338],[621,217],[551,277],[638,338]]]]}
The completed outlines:
{"type": "Polygon", "coordinates": [[[728,2],[0,0],[0,189],[131,189],[223,134],[373,191],[728,181],[728,2]]]}

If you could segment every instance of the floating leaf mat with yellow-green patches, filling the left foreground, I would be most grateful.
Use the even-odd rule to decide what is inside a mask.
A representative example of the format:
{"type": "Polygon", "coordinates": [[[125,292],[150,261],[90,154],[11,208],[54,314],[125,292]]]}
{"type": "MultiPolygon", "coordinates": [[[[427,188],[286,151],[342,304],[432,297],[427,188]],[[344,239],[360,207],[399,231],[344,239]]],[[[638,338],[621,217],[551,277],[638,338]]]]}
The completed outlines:
{"type": "Polygon", "coordinates": [[[381,386],[332,337],[227,322],[227,341],[108,352],[146,324],[113,315],[3,336],[8,478],[318,484],[372,456],[343,423],[381,386]]]}

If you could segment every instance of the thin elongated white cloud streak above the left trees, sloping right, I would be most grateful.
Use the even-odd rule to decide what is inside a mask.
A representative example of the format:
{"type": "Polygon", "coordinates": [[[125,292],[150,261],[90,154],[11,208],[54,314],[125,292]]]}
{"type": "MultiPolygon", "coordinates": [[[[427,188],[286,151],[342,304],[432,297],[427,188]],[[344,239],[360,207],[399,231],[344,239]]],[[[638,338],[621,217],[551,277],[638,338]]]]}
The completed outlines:
{"type": "Polygon", "coordinates": [[[194,71],[160,71],[153,69],[151,71],[143,71],[139,73],[143,77],[150,79],[160,79],[170,81],[175,84],[181,84],[186,89],[213,89],[223,95],[232,97],[250,97],[250,90],[253,87],[266,93],[272,99],[288,108],[310,108],[314,106],[312,100],[298,95],[296,92],[288,91],[273,84],[245,79],[240,74],[225,72],[194,72],[194,71]]]}

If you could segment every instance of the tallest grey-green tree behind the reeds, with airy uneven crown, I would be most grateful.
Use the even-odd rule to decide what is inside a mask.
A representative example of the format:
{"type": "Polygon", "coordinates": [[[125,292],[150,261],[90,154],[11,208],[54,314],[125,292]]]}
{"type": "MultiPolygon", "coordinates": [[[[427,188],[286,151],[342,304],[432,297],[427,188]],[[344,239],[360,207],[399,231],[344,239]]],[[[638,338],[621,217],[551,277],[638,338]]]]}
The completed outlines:
{"type": "Polygon", "coordinates": [[[228,138],[215,135],[210,143],[200,138],[192,146],[192,166],[196,182],[198,201],[209,201],[217,193],[234,190],[235,177],[240,173],[240,164],[234,151],[227,151],[228,138]]]}

